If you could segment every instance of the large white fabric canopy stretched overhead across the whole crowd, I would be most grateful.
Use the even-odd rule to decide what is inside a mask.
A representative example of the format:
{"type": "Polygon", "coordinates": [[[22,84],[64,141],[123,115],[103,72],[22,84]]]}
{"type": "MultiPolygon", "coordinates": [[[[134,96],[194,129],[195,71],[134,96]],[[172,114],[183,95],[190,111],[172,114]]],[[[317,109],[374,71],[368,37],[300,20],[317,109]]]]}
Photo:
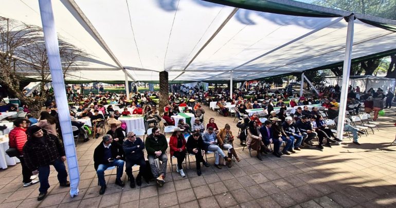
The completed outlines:
{"type": "MultiPolygon", "coordinates": [[[[333,15],[292,16],[198,0],[52,1],[59,35],[91,55],[66,80],[124,80],[122,69],[130,81],[158,80],[164,70],[174,81],[229,80],[231,70],[233,80],[250,80],[344,60],[348,23],[343,16],[350,12],[263,2],[293,3],[333,15]]],[[[37,1],[1,4],[1,16],[41,26],[37,1]]],[[[394,32],[354,22],[352,58],[396,48],[394,32]]]]}

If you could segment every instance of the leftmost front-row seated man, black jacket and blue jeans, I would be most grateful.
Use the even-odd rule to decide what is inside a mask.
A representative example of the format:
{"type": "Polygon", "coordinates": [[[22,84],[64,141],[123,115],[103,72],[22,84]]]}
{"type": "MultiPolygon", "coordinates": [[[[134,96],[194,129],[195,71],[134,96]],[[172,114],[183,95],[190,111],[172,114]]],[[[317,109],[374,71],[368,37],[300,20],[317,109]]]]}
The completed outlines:
{"type": "Polygon", "coordinates": [[[124,169],[124,161],[121,160],[123,155],[122,147],[118,142],[113,142],[113,138],[109,134],[104,135],[102,140],[103,142],[100,142],[94,151],[94,167],[98,174],[99,185],[101,186],[99,191],[100,195],[104,194],[106,191],[104,171],[109,167],[118,167],[116,184],[124,186],[124,182],[121,180],[122,171],[124,169]]]}

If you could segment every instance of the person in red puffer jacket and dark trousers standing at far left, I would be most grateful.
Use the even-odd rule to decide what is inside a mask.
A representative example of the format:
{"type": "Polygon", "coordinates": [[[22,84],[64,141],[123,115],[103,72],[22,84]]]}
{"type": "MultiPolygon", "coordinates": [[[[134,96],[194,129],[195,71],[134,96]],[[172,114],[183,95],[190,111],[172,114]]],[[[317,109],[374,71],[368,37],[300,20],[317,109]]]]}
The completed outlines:
{"type": "Polygon", "coordinates": [[[21,160],[22,165],[22,177],[23,177],[23,186],[29,186],[34,183],[38,183],[38,180],[31,180],[30,176],[31,171],[26,167],[25,160],[23,158],[23,146],[26,143],[27,135],[26,135],[26,128],[27,128],[27,120],[24,118],[18,118],[13,122],[15,128],[13,128],[10,133],[8,134],[9,137],[9,146],[10,148],[16,148],[20,156],[17,156],[19,160],[21,160]]]}

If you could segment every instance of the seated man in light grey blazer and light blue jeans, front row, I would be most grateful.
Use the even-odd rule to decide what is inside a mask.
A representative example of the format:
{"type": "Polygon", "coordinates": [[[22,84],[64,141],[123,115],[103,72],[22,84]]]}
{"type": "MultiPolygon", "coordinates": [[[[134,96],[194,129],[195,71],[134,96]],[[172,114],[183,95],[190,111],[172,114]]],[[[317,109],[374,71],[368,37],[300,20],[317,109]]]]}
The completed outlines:
{"type": "Polygon", "coordinates": [[[214,160],[214,167],[218,169],[222,169],[219,165],[219,155],[224,158],[226,161],[231,161],[231,158],[227,157],[223,150],[217,145],[217,135],[213,131],[213,127],[209,127],[208,130],[202,135],[202,139],[204,140],[206,149],[208,151],[214,152],[215,160],[214,160]]]}

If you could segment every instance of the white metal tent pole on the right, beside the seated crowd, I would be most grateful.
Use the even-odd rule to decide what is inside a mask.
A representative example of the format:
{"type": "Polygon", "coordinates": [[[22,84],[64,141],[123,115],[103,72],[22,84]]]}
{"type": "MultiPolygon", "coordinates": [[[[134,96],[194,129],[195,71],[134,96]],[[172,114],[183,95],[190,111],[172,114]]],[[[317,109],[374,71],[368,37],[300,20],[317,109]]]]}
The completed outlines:
{"type": "Polygon", "coordinates": [[[345,59],[343,67],[343,82],[341,85],[341,97],[339,100],[338,110],[338,123],[337,123],[337,138],[343,138],[343,130],[345,123],[345,111],[347,107],[347,95],[348,95],[348,82],[349,73],[351,71],[351,56],[353,46],[353,20],[354,15],[348,17],[348,31],[347,31],[347,43],[345,47],[345,59]]]}

